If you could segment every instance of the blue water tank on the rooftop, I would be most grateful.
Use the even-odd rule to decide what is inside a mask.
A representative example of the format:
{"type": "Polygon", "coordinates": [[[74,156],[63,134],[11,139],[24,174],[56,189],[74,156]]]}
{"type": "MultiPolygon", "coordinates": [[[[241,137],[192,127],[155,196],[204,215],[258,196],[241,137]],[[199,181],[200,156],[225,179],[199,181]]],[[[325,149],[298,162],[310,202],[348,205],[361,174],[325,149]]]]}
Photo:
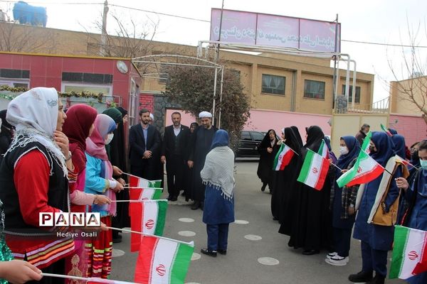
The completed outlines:
{"type": "Polygon", "coordinates": [[[24,1],[18,1],[14,5],[14,20],[24,25],[46,27],[48,15],[45,7],[31,6],[24,1]]]}

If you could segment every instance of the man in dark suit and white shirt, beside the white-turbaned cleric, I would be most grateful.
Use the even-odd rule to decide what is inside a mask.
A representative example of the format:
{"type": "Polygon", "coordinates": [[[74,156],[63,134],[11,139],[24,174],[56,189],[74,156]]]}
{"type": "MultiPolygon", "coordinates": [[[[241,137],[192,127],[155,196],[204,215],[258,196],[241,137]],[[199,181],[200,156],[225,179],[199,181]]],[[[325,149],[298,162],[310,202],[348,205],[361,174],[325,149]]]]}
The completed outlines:
{"type": "Polygon", "coordinates": [[[190,129],[181,125],[181,114],[172,114],[173,125],[164,128],[162,163],[166,163],[168,200],[176,201],[179,191],[184,190],[185,149],[189,142],[190,129]]]}

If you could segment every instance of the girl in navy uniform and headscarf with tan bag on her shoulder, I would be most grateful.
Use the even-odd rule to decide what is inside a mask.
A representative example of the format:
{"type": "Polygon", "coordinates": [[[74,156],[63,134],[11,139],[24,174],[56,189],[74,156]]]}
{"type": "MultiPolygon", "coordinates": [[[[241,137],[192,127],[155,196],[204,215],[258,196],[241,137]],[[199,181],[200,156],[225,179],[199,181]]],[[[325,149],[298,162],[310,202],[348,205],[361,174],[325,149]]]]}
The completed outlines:
{"type": "Polygon", "coordinates": [[[382,284],[387,274],[387,252],[391,249],[399,205],[395,178],[407,176],[408,170],[396,158],[393,142],[386,133],[373,132],[370,143],[369,155],[387,171],[361,185],[357,192],[359,209],[353,237],[361,241],[362,271],[349,275],[349,280],[382,284]]]}

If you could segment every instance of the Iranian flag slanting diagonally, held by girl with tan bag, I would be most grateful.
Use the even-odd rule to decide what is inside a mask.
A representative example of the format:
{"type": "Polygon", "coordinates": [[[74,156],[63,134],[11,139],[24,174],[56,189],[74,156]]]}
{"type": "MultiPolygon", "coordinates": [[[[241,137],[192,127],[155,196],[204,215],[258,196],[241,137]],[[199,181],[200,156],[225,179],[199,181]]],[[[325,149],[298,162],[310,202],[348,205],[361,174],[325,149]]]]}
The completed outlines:
{"type": "Polygon", "coordinates": [[[371,132],[364,138],[362,150],[359,152],[356,163],[337,179],[339,187],[362,185],[362,183],[375,180],[381,173],[384,173],[384,168],[366,152],[369,141],[371,141],[371,132]]]}

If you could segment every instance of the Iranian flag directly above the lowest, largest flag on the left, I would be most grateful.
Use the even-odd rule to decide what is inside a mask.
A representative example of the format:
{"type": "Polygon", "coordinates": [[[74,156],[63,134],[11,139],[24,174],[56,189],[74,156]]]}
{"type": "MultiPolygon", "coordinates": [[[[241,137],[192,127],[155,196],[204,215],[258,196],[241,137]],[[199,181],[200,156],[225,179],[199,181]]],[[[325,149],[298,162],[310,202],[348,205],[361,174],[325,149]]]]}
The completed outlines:
{"type": "MultiPolygon", "coordinates": [[[[167,200],[146,200],[130,207],[130,228],[143,234],[163,236],[167,200]]],[[[141,234],[130,234],[130,251],[138,251],[141,234]]]]}

